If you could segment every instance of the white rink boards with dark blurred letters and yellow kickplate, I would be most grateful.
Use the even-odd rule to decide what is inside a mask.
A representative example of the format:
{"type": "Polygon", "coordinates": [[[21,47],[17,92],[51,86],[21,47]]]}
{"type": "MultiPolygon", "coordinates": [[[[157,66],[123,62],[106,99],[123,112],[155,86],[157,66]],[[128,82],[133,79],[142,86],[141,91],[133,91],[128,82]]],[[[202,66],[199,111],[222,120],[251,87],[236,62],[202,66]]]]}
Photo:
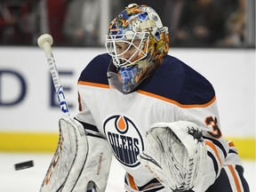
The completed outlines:
{"type": "MultiPolygon", "coordinates": [[[[76,80],[104,49],[54,48],[71,114],[76,80]]],[[[220,127],[243,158],[255,159],[255,52],[230,49],[170,49],[215,87],[220,127]]],[[[0,47],[0,151],[54,151],[60,108],[47,61],[37,47],[0,47]]]]}

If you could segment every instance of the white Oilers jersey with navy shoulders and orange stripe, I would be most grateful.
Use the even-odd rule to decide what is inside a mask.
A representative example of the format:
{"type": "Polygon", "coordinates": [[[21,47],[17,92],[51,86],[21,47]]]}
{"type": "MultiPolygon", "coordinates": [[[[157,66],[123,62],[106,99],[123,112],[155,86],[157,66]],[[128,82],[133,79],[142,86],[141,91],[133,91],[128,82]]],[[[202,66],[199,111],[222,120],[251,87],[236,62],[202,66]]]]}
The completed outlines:
{"type": "Polygon", "coordinates": [[[204,76],[166,55],[164,63],[136,90],[123,94],[109,88],[110,62],[108,54],[99,55],[81,73],[76,119],[89,134],[108,140],[127,172],[126,190],[169,191],[137,159],[145,148],[146,132],[156,122],[191,121],[204,131],[208,164],[198,191],[212,185],[224,164],[241,165],[236,148],[220,132],[215,92],[204,76]]]}

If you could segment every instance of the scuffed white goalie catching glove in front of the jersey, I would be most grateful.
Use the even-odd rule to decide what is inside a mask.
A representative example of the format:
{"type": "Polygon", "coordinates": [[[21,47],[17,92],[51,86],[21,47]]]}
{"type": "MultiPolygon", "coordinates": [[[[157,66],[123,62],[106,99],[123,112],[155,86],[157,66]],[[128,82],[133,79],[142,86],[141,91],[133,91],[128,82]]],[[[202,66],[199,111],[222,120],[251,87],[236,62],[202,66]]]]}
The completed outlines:
{"type": "Polygon", "coordinates": [[[153,124],[139,161],[165,188],[186,191],[204,173],[206,147],[202,131],[187,121],[153,124]]]}

